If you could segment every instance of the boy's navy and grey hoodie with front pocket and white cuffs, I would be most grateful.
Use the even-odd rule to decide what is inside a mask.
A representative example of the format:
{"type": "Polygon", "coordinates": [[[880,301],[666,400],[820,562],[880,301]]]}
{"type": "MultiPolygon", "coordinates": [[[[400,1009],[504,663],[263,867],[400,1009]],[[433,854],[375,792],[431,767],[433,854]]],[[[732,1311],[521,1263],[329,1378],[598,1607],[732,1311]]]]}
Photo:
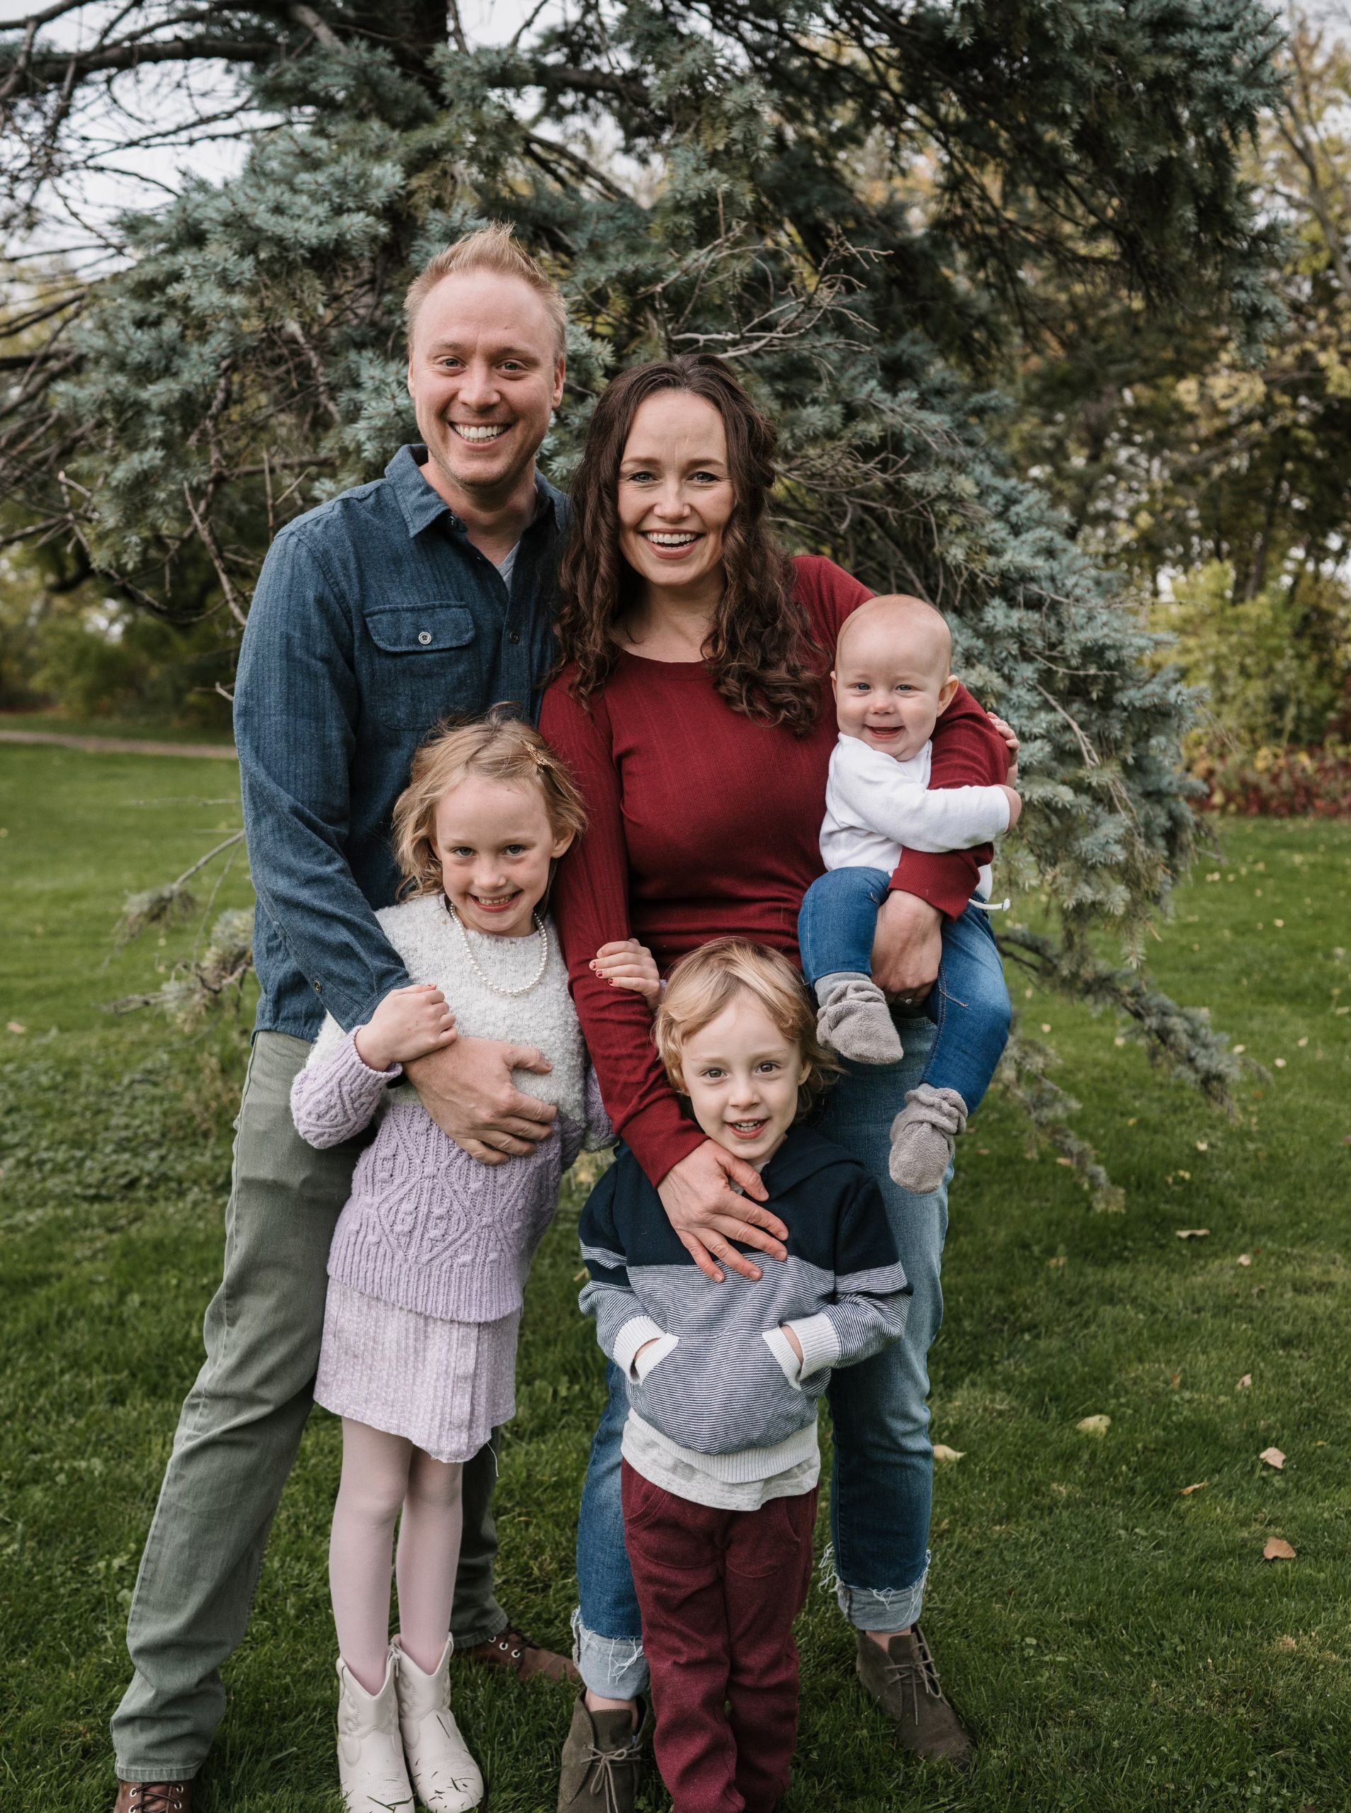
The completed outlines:
{"type": "Polygon", "coordinates": [[[789,1256],[742,1247],[762,1267],[754,1282],[733,1271],[722,1284],[704,1276],[626,1146],[580,1222],[591,1273],[580,1307],[629,1382],[629,1423],[640,1421],[644,1450],[656,1438],[673,1459],[729,1483],[767,1479],[816,1454],[816,1403],[831,1369],[898,1340],[910,1298],[881,1191],[856,1159],[796,1126],[762,1177],[789,1256]],[[783,1325],[802,1343],[802,1365],[783,1325]],[[653,1345],[635,1369],[644,1342],[653,1345]]]}

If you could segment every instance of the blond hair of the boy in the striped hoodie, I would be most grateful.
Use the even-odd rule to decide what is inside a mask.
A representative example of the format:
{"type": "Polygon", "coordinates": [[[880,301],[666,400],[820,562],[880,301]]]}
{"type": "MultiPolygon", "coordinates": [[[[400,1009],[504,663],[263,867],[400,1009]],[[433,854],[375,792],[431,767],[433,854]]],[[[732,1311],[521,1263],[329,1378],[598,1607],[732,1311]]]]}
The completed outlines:
{"type": "Polygon", "coordinates": [[[653,1044],[673,1090],[687,1095],[680,1053],[736,995],[751,995],[785,1039],[798,1046],[807,1075],[798,1084],[798,1119],[840,1075],[840,1064],[816,1037],[816,1008],[787,957],[744,937],[714,937],[684,955],[666,979],[653,1021],[653,1044]]]}

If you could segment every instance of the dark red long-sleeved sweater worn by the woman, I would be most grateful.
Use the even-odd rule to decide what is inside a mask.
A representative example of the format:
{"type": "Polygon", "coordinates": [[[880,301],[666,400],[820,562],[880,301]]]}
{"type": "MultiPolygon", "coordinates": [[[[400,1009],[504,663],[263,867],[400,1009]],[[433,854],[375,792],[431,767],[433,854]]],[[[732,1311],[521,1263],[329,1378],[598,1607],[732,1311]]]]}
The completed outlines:
{"type": "MultiPolygon", "coordinates": [[[[872,595],[831,560],[794,560],[816,640],[872,595]]],[[[551,906],[600,1093],[653,1184],[704,1142],[651,1042],[647,1004],[588,965],[637,937],[666,970],[711,937],[749,937],[798,961],[798,908],[821,874],[818,836],[836,740],[831,682],[807,736],[754,723],[720,698],[704,662],[622,653],[588,713],[566,669],[544,694],[540,731],[586,798],[588,829],[559,865],[551,906]]],[[[957,689],[934,729],[932,787],[999,781],[1005,745],[957,689]]],[[[950,856],[901,850],[892,887],[956,917],[988,847],[950,856]]]]}

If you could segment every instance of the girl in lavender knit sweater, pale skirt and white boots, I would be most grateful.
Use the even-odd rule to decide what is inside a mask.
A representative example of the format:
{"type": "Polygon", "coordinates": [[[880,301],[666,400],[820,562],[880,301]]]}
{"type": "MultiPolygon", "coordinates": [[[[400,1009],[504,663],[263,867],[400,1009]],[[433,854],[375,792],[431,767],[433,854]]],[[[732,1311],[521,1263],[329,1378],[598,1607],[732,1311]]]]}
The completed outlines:
{"type": "Polygon", "coordinates": [[[412,1808],[413,1791],[433,1813],[464,1813],[484,1793],[450,1711],[461,1469],[515,1411],[522,1289],[562,1171],[582,1144],[613,1137],[540,910],[582,825],[562,761],[504,707],[433,736],[394,809],[406,899],[377,914],[413,983],[350,1033],[325,1021],[292,1090],[312,1146],[352,1139],[383,1110],[328,1255],[314,1391],[343,1418],[330,1585],[348,1813],[412,1808]],[[404,1062],[459,1033],[537,1046],[551,1062],[548,1075],[515,1071],[559,1108],[528,1157],[479,1164],[408,1082],[392,1088],[404,1062]]]}

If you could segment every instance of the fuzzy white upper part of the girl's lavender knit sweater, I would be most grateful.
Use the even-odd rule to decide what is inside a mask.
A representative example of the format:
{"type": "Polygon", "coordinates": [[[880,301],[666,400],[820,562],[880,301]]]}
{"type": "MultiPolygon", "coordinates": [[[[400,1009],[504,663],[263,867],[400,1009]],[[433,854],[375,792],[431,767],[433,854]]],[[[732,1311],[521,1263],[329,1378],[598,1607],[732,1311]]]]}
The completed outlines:
{"type": "MultiPolygon", "coordinates": [[[[501,995],[481,979],[475,965],[499,988],[524,988],[539,970],[537,936],[495,937],[490,932],[462,930],[450,916],[442,894],[424,894],[403,906],[383,906],[375,917],[403,957],[410,979],[435,983],[444,992],[462,1039],[533,1044],[553,1070],[544,1077],[515,1070],[511,1081],[526,1095],[555,1102],[559,1113],[578,1126],[586,1124],[586,1044],[568,994],[568,965],[551,919],[544,921],[549,939],[544,975],[530,994],[501,995]],[[466,939],[473,963],[466,954],[466,939]]],[[[310,1066],[330,1057],[343,1037],[343,1028],[328,1015],[310,1052],[310,1066]]]]}

